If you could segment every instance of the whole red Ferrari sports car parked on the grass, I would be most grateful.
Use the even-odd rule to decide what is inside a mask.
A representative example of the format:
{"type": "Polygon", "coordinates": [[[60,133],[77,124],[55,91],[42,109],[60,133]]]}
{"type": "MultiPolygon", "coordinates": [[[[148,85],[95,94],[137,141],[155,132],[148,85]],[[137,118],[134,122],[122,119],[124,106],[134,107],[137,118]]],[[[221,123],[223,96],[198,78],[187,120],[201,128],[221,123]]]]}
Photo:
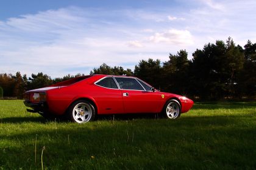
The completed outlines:
{"type": "Polygon", "coordinates": [[[129,76],[90,75],[69,79],[50,87],[26,91],[24,104],[44,117],[65,115],[83,123],[95,115],[121,113],[163,113],[176,119],[193,106],[193,101],[164,93],[129,76]]]}

